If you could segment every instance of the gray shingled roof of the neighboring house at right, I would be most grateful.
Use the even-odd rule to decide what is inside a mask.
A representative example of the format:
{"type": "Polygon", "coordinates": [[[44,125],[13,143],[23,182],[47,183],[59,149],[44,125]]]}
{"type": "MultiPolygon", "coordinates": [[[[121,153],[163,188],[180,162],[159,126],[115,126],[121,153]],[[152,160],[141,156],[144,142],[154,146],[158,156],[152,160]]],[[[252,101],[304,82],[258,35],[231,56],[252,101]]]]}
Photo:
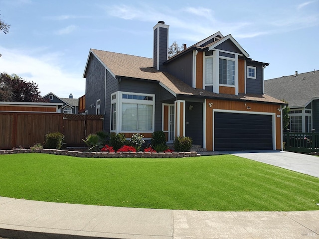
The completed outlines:
{"type": "Polygon", "coordinates": [[[288,102],[289,107],[307,106],[319,97],[319,71],[266,80],[265,93],[288,102]]]}

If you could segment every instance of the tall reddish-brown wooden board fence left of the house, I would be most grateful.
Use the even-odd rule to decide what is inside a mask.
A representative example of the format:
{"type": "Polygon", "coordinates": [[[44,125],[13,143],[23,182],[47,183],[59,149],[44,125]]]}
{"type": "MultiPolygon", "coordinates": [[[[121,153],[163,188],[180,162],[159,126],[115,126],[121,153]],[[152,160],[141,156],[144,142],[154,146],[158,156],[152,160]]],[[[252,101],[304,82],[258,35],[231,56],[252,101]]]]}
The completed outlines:
{"type": "Polygon", "coordinates": [[[82,139],[103,130],[101,119],[102,115],[0,112],[0,149],[43,144],[45,134],[55,131],[64,134],[65,146],[84,145],[82,139]]]}

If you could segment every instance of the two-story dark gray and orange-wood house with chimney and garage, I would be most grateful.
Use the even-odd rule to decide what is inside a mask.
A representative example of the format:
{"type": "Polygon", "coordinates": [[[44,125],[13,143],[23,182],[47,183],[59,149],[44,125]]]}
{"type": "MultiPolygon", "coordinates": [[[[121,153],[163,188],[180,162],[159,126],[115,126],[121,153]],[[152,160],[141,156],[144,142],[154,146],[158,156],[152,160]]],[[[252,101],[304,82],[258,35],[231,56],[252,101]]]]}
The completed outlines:
{"type": "Polygon", "coordinates": [[[154,27],[154,59],[90,49],[83,77],[88,114],[104,130],[162,130],[208,151],[282,149],[284,102],[264,94],[264,68],[231,36],[217,32],[168,59],[168,28],[154,27]]]}

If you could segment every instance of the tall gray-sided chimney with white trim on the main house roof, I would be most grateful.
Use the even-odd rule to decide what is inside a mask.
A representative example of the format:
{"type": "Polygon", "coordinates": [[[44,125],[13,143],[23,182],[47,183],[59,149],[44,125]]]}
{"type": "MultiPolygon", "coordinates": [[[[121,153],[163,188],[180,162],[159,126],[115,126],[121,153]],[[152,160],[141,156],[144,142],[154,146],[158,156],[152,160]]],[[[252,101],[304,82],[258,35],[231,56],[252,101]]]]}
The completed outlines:
{"type": "Polygon", "coordinates": [[[159,21],[154,29],[153,67],[163,70],[163,62],[168,60],[168,28],[165,22],[159,21]]]}

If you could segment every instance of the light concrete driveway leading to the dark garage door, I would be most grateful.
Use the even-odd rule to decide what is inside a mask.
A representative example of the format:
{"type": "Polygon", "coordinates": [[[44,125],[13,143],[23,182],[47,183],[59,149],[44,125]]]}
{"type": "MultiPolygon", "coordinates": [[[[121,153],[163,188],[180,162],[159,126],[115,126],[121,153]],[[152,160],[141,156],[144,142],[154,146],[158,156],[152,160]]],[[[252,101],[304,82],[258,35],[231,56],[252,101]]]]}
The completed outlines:
{"type": "Polygon", "coordinates": [[[319,157],[317,156],[276,150],[228,153],[319,178],[319,157]]]}

